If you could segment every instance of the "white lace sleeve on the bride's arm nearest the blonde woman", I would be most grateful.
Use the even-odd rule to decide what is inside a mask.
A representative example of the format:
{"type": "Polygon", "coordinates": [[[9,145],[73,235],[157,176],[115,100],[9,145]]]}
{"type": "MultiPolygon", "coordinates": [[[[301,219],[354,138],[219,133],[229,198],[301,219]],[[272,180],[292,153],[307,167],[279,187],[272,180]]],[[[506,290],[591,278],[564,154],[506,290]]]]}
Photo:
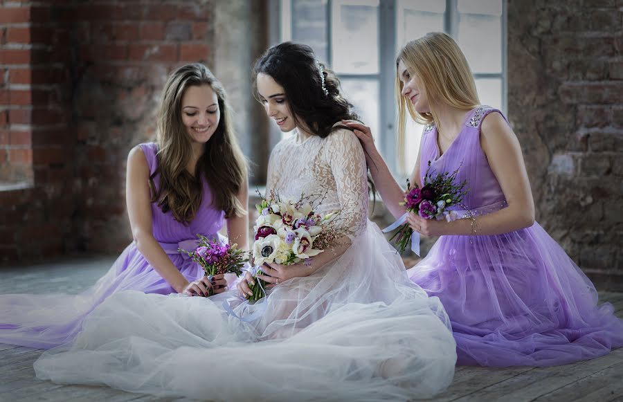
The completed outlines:
{"type": "Polygon", "coordinates": [[[352,131],[342,129],[329,134],[325,156],[335,179],[343,226],[350,228],[352,240],[368,222],[368,169],[363,149],[352,131]]]}

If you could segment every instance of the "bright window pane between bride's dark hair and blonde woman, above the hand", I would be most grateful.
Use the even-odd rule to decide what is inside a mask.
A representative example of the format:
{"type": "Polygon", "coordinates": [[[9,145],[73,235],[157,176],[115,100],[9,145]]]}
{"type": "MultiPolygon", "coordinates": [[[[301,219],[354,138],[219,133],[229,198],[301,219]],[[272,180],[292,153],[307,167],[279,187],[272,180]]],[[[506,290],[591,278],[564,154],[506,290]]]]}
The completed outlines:
{"type": "MultiPolygon", "coordinates": [[[[354,104],[355,112],[370,127],[375,139],[379,136],[379,81],[362,78],[341,78],[344,97],[354,104]]],[[[378,140],[377,140],[378,141],[378,140]]]]}

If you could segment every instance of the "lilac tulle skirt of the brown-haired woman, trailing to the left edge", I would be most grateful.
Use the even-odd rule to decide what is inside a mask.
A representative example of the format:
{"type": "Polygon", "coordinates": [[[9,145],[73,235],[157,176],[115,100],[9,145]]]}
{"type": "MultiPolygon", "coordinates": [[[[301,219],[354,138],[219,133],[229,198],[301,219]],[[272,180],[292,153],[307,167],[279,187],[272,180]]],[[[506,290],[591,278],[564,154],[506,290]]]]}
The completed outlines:
{"type": "MultiPolygon", "coordinates": [[[[204,275],[201,267],[181,254],[169,257],[188,281],[204,275]]],[[[0,343],[41,349],[61,345],[78,334],[84,317],[102,301],[125,290],[175,293],[132,243],[106,275],[78,295],[0,295],[0,343]]]]}

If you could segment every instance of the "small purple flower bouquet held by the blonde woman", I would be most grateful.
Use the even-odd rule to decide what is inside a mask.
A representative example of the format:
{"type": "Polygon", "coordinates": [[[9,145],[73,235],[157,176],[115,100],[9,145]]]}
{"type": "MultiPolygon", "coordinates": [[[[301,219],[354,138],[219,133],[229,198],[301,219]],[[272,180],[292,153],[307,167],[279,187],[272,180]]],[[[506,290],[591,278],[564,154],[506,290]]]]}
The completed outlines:
{"type": "MultiPolygon", "coordinates": [[[[456,212],[448,210],[454,205],[462,205],[465,194],[469,190],[465,190],[467,181],[456,183],[456,174],[458,169],[452,173],[444,172],[433,176],[430,171],[431,162],[428,162],[428,170],[424,176],[424,185],[419,188],[411,188],[407,180],[407,191],[404,201],[400,205],[406,206],[407,212],[418,214],[424,219],[446,219],[453,221],[457,218],[456,212]]],[[[408,223],[399,226],[398,231],[390,238],[390,241],[397,237],[396,247],[399,253],[403,253],[407,245],[411,242],[413,229],[408,223]]]]}

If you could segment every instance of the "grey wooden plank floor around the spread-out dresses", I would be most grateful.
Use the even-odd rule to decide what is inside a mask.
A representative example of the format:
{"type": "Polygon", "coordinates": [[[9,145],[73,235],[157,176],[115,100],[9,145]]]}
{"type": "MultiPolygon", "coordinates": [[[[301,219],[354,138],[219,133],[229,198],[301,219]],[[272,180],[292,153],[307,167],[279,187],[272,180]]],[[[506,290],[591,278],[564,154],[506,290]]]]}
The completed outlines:
{"type": "MultiPolygon", "coordinates": [[[[2,268],[0,294],[78,293],[112,262],[114,257],[92,257],[2,268]]],[[[600,293],[600,300],[613,303],[623,317],[623,293],[600,293]]],[[[191,401],[40,381],[33,371],[40,354],[42,350],[0,344],[0,401],[191,401]]],[[[623,348],[559,367],[457,367],[449,389],[433,401],[623,401],[623,348]]]]}

